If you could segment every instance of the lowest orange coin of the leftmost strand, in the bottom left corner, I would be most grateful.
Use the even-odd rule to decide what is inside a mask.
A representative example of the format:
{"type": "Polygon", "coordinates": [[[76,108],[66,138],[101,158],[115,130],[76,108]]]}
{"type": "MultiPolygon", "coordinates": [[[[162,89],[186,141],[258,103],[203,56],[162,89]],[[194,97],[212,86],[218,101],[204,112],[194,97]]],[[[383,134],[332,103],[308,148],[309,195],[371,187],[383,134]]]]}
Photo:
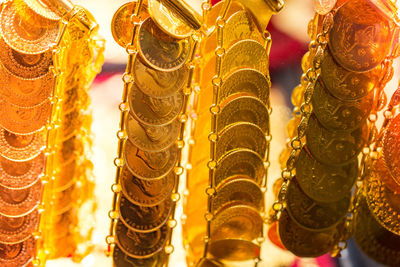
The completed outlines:
{"type": "Polygon", "coordinates": [[[13,245],[0,243],[0,266],[28,266],[35,255],[35,247],[34,237],[13,245]]]}

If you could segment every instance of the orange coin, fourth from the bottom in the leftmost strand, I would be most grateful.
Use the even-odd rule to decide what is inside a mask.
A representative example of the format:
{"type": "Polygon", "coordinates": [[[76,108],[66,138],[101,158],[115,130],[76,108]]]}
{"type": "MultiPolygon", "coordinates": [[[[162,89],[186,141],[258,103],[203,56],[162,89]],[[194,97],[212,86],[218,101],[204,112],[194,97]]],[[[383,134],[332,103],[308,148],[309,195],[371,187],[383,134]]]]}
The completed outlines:
{"type": "Polygon", "coordinates": [[[9,189],[31,187],[43,175],[45,164],[43,154],[23,162],[11,161],[0,156],[0,185],[9,189]]]}

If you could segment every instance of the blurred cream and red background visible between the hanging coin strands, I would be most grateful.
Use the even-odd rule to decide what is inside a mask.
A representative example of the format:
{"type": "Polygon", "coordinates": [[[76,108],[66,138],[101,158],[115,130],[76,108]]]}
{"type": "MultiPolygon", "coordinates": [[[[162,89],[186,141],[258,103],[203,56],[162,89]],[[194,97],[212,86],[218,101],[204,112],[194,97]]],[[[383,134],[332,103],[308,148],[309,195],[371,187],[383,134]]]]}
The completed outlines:
{"type": "MultiPolygon", "coordinates": [[[[114,182],[115,167],[113,160],[117,154],[116,132],[119,125],[120,113],[118,105],[122,95],[122,74],[125,71],[127,55],[123,48],[118,46],[111,35],[111,19],[114,12],[126,0],[73,0],[90,10],[100,24],[100,33],[106,39],[106,62],[102,73],[97,77],[92,90],[92,109],[94,116],[93,132],[94,162],[96,175],[96,195],[98,198],[98,212],[96,216],[96,230],[93,242],[96,249],[93,254],[87,256],[82,263],[73,263],[70,259],[50,261],[50,267],[74,267],[93,266],[110,267],[112,260],[105,257],[105,236],[108,234],[109,223],[107,213],[111,208],[111,185],[114,182]]],[[[201,0],[187,0],[199,10],[201,0]]],[[[274,16],[269,25],[272,35],[272,50],[270,56],[270,71],[272,79],[272,170],[269,175],[269,188],[276,178],[280,176],[278,156],[285,145],[286,122],[291,116],[290,94],[299,83],[301,76],[300,62],[307,51],[309,39],[307,37],[307,24],[314,15],[313,0],[285,0],[285,9],[274,16]]],[[[396,63],[396,73],[398,68],[396,63]]],[[[388,85],[388,91],[393,91],[397,85],[397,77],[388,85]]],[[[391,95],[390,92],[388,92],[391,95]]],[[[267,207],[272,203],[271,190],[267,196],[267,207]]],[[[181,214],[181,208],[177,216],[181,214]]],[[[179,217],[178,217],[179,218],[179,217]]],[[[180,229],[175,231],[175,252],[171,258],[172,267],[185,267],[183,248],[180,240],[180,229]]],[[[275,247],[266,240],[262,249],[262,267],[372,267],[379,266],[357,251],[355,245],[350,242],[340,260],[331,259],[329,256],[318,259],[296,259],[290,253],[275,247]],[[351,251],[351,252],[349,252],[351,251]]]]}

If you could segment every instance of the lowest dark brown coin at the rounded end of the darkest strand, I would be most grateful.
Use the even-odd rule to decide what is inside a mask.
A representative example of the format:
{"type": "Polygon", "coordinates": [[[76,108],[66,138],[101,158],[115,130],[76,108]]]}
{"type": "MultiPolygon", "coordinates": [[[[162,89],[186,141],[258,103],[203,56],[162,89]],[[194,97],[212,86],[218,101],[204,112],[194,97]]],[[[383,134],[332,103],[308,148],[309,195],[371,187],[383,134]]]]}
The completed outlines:
{"type": "Polygon", "coordinates": [[[287,211],[283,211],[279,218],[278,233],[283,246],[298,257],[322,256],[331,251],[339,240],[336,228],[308,231],[298,226],[287,211]]]}

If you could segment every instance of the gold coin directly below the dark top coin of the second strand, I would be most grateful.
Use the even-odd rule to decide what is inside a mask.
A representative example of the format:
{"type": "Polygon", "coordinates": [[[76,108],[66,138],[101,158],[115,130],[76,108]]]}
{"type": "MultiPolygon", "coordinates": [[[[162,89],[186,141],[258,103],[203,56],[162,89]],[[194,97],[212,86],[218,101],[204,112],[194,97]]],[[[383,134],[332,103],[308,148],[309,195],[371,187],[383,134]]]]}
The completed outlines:
{"type": "Polygon", "coordinates": [[[174,71],[159,71],[147,67],[140,57],[136,57],[133,63],[133,75],[137,87],[145,95],[152,98],[166,98],[176,95],[186,85],[189,72],[185,66],[174,71]]]}

